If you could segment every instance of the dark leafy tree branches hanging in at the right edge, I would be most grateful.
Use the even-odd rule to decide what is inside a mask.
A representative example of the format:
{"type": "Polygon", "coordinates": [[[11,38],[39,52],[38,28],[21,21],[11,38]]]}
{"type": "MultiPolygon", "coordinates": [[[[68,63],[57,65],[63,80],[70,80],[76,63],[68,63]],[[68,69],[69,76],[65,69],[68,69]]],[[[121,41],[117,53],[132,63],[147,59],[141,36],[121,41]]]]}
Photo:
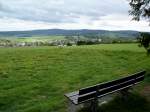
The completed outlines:
{"type": "MultiPolygon", "coordinates": [[[[142,18],[150,22],[150,0],[130,0],[131,10],[129,14],[133,16],[133,20],[140,21],[142,18]]],[[[140,45],[150,54],[150,33],[141,33],[138,38],[140,45]]]]}

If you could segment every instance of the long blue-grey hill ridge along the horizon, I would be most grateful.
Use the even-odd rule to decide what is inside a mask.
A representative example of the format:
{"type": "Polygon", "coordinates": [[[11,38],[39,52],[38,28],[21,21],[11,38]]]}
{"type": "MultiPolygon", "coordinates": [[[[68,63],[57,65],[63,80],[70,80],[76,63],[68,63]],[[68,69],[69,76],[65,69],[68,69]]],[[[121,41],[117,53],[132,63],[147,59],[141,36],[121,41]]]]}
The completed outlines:
{"type": "Polygon", "coordinates": [[[103,37],[122,37],[134,38],[139,35],[138,31],[107,31],[107,30],[64,30],[64,29],[47,29],[32,31],[4,31],[0,32],[0,37],[32,37],[32,36],[48,36],[48,35],[99,35],[103,37]]]}

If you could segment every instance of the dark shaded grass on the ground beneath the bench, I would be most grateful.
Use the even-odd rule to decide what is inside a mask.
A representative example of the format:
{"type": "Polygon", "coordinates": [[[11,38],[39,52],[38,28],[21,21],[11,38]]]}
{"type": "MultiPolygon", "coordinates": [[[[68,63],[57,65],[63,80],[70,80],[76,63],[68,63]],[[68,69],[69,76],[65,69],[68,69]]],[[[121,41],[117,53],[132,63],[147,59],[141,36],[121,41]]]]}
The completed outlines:
{"type": "MultiPolygon", "coordinates": [[[[79,112],[90,112],[83,108],[79,112]]],[[[150,102],[139,94],[130,93],[126,99],[116,96],[112,101],[99,107],[98,112],[149,112],[150,102]]]]}

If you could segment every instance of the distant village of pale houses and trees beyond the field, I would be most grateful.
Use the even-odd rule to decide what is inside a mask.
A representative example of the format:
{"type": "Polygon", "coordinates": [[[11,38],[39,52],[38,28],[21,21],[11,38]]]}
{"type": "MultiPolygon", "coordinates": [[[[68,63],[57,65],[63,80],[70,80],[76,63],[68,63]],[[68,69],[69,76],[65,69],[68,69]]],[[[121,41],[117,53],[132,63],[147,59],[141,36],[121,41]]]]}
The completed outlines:
{"type": "Polygon", "coordinates": [[[25,47],[25,46],[77,46],[100,44],[102,39],[61,39],[61,40],[37,40],[37,41],[12,41],[9,39],[0,39],[0,47],[25,47]]]}

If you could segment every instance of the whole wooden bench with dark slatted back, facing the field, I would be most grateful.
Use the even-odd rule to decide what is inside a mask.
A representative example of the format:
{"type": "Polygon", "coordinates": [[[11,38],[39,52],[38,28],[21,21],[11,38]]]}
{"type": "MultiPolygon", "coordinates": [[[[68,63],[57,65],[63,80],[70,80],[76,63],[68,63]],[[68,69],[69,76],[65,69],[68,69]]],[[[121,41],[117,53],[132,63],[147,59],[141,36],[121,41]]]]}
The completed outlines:
{"type": "Polygon", "coordinates": [[[121,91],[122,94],[126,94],[130,87],[144,80],[145,73],[146,71],[140,71],[127,77],[106,83],[100,83],[94,86],[82,88],[79,91],[65,94],[70,104],[69,112],[76,112],[76,108],[74,108],[74,106],[86,102],[92,102],[91,112],[96,112],[98,98],[117,91],[121,91]]]}

